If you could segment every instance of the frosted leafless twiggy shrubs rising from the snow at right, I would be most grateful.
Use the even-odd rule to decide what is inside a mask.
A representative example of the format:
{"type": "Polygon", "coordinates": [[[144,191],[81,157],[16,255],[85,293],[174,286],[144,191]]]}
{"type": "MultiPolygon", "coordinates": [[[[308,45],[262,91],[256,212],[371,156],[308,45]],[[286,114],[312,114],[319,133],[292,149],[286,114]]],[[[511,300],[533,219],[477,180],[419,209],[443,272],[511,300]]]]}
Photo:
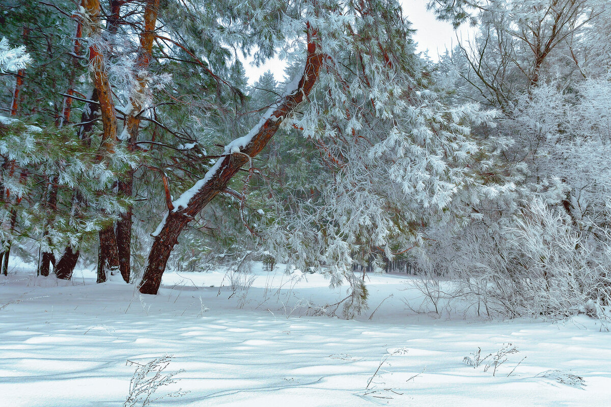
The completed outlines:
{"type": "Polygon", "coordinates": [[[428,256],[420,257],[423,292],[436,301],[467,301],[487,317],[562,319],[586,313],[610,317],[611,261],[609,232],[587,239],[575,232],[570,218],[541,201],[524,203],[522,214],[492,239],[483,225],[460,236],[436,235],[428,256]],[[455,284],[433,284],[443,273],[455,284]],[[430,295],[430,294],[429,294],[430,295]]]}

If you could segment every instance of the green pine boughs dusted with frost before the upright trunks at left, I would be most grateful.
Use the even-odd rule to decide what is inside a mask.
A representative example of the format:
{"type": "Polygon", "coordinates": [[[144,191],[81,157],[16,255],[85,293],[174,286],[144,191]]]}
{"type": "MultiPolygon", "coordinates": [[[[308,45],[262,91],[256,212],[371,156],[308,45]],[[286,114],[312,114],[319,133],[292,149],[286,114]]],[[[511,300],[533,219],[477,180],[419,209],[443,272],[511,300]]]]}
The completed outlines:
{"type": "Polygon", "coordinates": [[[9,166],[0,171],[2,187],[10,197],[9,205],[0,211],[2,223],[10,225],[13,207],[20,209],[20,229],[2,228],[0,240],[10,242],[27,231],[45,235],[45,239],[37,242],[45,251],[62,250],[67,244],[78,247],[84,234],[100,230],[109,219],[114,220],[125,212],[125,198],[108,191],[112,191],[118,170],[136,167],[132,153],[119,146],[114,154],[98,160],[95,149],[83,148],[81,143],[71,138],[73,135],[69,130],[67,133],[56,132],[54,128],[40,129],[26,126],[16,119],[4,119],[9,124],[3,127],[0,154],[16,168],[29,170],[14,171],[9,166]],[[56,148],[48,148],[53,142],[57,143],[56,148]],[[74,191],[74,198],[68,201],[65,211],[51,214],[50,225],[40,220],[44,213],[40,201],[29,206],[20,205],[21,198],[34,190],[36,185],[29,180],[35,177],[53,179],[60,190],[74,191]]]}

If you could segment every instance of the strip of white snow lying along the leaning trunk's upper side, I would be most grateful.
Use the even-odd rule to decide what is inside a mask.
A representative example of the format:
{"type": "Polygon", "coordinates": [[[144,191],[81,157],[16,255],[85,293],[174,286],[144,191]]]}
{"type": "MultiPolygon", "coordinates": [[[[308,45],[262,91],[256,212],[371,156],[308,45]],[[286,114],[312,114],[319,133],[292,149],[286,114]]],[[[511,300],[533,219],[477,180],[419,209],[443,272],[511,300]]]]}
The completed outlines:
{"type": "MultiPolygon", "coordinates": [[[[258,132],[263,127],[263,124],[265,124],[266,121],[272,118],[274,112],[276,112],[276,110],[281,106],[285,99],[288,98],[288,96],[295,95],[295,93],[298,92],[299,82],[301,81],[301,77],[304,75],[304,71],[305,68],[299,71],[299,74],[297,74],[295,77],[293,77],[293,80],[287,84],[287,89],[284,91],[284,93],[282,93],[280,99],[276,101],[276,103],[272,104],[269,109],[266,110],[266,112],[260,118],[258,123],[251,129],[251,131],[248,132],[248,134],[243,135],[242,137],[238,137],[238,139],[235,139],[228,145],[226,145],[224,148],[224,153],[218,160],[216,160],[216,162],[214,163],[212,168],[208,170],[206,175],[204,175],[202,179],[197,181],[191,188],[183,192],[177,200],[172,202],[172,206],[174,206],[172,212],[178,212],[181,209],[186,209],[186,207],[189,206],[189,201],[191,201],[193,196],[195,196],[197,192],[199,192],[206,184],[208,184],[208,181],[210,181],[210,179],[216,174],[216,171],[221,168],[225,157],[233,153],[240,153],[241,149],[246,147],[248,143],[252,141],[255,135],[258,134],[258,132]]],[[[276,118],[276,120],[279,120],[279,118],[276,118]]],[[[151,236],[156,237],[159,235],[159,233],[161,233],[161,229],[163,229],[163,226],[166,223],[166,219],[167,214],[164,215],[163,220],[161,220],[161,223],[159,223],[159,226],[157,226],[151,236]]]]}

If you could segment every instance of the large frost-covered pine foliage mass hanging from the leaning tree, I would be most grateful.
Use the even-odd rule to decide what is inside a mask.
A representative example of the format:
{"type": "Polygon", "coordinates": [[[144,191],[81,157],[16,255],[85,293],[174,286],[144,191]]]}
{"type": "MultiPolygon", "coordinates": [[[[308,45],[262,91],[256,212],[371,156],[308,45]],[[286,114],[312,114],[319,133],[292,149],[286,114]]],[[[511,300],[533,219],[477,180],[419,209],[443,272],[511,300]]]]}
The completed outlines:
{"type": "Polygon", "coordinates": [[[315,175],[315,193],[297,191],[295,204],[277,206],[284,215],[270,245],[302,269],[329,273],[331,285],[353,283],[352,265],[370,254],[381,270],[382,254],[392,259],[425,242],[425,225],[458,225],[470,204],[515,188],[502,176],[485,180],[502,140],[472,136],[474,126],[494,126],[497,112],[448,106],[451,78],[426,73],[398,5],[385,7],[373,24],[360,14],[367,10],[353,10],[317,25],[329,57],[310,103],[290,122],[303,129],[314,149],[310,160],[325,170],[315,175]]]}

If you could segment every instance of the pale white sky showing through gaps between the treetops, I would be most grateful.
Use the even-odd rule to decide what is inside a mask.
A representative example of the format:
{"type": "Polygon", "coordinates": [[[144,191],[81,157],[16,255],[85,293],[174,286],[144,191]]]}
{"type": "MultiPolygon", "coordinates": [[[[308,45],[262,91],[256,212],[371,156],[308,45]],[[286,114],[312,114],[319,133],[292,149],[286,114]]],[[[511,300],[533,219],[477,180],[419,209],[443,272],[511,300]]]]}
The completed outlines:
{"type": "MultiPolygon", "coordinates": [[[[403,3],[403,14],[411,21],[412,27],[417,30],[415,40],[418,43],[419,51],[426,51],[433,60],[437,60],[438,54],[443,54],[446,48],[452,48],[456,43],[456,32],[452,24],[445,21],[438,21],[433,12],[426,10],[428,0],[401,0],[403,3]]],[[[461,27],[458,37],[466,38],[468,29],[461,27]]],[[[249,84],[257,81],[265,71],[270,70],[278,81],[284,80],[284,61],[277,59],[269,60],[265,65],[255,67],[251,65],[252,59],[246,60],[244,68],[249,84]]]]}

